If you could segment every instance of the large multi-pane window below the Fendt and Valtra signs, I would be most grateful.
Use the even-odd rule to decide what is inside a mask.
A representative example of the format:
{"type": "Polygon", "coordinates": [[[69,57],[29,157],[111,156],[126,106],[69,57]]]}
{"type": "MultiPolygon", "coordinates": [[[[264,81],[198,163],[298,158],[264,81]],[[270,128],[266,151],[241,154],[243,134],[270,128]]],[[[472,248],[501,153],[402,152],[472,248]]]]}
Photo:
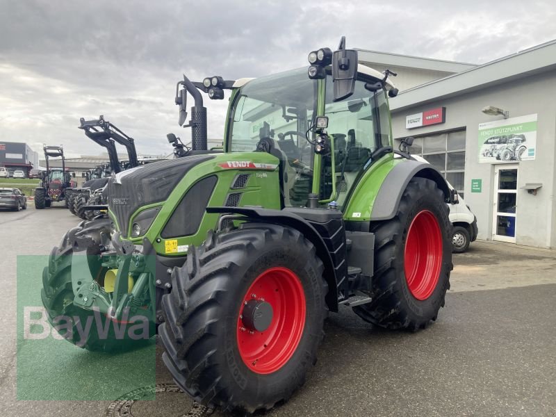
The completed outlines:
{"type": "Polygon", "coordinates": [[[464,197],[465,130],[420,136],[415,138],[409,152],[423,156],[464,197]]]}

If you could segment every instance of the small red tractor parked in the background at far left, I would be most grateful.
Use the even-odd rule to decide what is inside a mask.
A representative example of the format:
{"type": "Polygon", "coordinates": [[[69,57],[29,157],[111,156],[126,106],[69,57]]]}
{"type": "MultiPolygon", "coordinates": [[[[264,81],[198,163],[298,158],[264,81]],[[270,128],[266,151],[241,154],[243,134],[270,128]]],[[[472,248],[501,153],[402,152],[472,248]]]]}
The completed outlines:
{"type": "Polygon", "coordinates": [[[65,170],[64,149],[60,146],[42,147],[47,170],[41,172],[41,181],[35,188],[35,208],[50,207],[52,202],[64,201],[67,206],[66,190],[75,186],[70,172],[65,170]],[[52,168],[49,165],[51,158],[61,158],[62,167],[52,168]]]}

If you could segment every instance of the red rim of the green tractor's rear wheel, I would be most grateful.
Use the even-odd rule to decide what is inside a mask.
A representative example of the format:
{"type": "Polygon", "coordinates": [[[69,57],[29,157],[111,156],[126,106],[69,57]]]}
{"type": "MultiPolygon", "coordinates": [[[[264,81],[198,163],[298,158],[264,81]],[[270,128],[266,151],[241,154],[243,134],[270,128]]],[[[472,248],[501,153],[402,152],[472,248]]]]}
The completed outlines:
{"type": "Polygon", "coordinates": [[[405,279],[417,300],[426,300],[436,288],[442,252],[439,222],[430,211],[420,211],[409,226],[404,251],[405,279]]]}

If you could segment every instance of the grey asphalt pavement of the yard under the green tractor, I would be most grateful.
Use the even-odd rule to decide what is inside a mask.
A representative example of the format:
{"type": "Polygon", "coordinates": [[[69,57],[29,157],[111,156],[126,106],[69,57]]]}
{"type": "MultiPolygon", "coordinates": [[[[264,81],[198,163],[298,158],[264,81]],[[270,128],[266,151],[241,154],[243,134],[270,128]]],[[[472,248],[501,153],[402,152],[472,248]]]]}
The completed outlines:
{"type": "MultiPolygon", "coordinates": [[[[17,256],[23,255],[19,257],[21,265],[24,256],[49,254],[65,231],[80,221],[62,206],[41,211],[28,207],[19,213],[0,212],[4,300],[0,416],[211,414],[177,392],[161,362],[159,346],[152,359],[158,384],[156,400],[117,400],[121,386],[120,391],[113,390],[114,398],[108,398],[110,386],[103,376],[112,368],[106,363],[114,359],[65,341],[53,341],[60,343],[54,353],[36,355],[37,378],[60,370],[97,373],[97,379],[88,379],[87,389],[92,392],[97,385],[108,386],[108,394],[103,391],[106,400],[18,400],[24,396],[17,393],[16,363],[25,344],[21,340],[18,344],[16,333],[17,256]]],[[[45,258],[36,259],[40,263],[45,258]]],[[[386,332],[366,324],[347,308],[332,314],[325,325],[318,362],[306,384],[267,415],[556,416],[556,251],[475,242],[466,254],[455,255],[454,263],[446,306],[436,323],[424,331],[386,332]]],[[[42,267],[36,266],[37,270],[42,267]]],[[[38,294],[41,285],[37,276],[31,284],[20,285],[19,291],[38,294]]],[[[132,368],[129,375],[135,375],[132,368]]],[[[19,377],[32,378],[33,373],[19,377]]],[[[130,379],[137,382],[136,377],[130,379]]],[[[53,380],[51,387],[38,389],[42,393],[37,392],[38,398],[44,398],[57,383],[53,380]]],[[[65,389],[71,398],[72,386],[65,389]]],[[[138,387],[138,395],[140,391],[138,387]]],[[[218,411],[212,415],[222,416],[218,411]]]]}

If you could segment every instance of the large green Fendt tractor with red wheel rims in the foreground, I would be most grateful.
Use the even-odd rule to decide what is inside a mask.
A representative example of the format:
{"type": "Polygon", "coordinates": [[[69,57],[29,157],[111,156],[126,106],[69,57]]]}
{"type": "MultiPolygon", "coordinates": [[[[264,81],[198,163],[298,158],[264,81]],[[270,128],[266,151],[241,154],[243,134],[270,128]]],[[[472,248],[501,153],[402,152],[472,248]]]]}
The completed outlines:
{"type": "Polygon", "coordinates": [[[349,306],[409,331],[436,320],[452,270],[445,203],[455,196],[431,165],[394,158],[390,72],[358,64],[345,40],[309,63],[259,79],[183,77],[180,125],[187,95],[195,99],[191,155],[117,174],[108,216],[68,231],[51,253],[42,300],[60,334],[117,350],[158,329],[183,391],[253,412],[303,384],[330,311],[349,306]],[[215,154],[201,92],[224,90],[215,154]],[[74,320],[60,326],[61,315],[74,320]]]}

